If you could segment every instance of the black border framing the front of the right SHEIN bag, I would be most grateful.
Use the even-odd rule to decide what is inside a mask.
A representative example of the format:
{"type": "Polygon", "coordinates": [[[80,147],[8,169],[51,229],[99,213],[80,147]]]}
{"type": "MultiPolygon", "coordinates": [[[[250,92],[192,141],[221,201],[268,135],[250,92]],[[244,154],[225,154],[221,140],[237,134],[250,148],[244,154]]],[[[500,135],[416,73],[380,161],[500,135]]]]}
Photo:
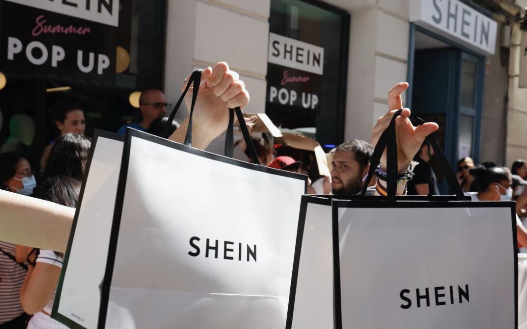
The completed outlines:
{"type": "MultiPolygon", "coordinates": [[[[335,305],[335,328],[343,329],[341,296],[340,296],[340,250],[338,238],[338,210],[339,208],[445,208],[444,203],[415,202],[415,201],[362,201],[333,200],[331,205],[333,221],[333,283],[335,305]],[[435,205],[434,205],[435,204],[435,205]]],[[[514,329],[518,329],[518,239],[516,238],[516,207],[513,201],[454,201],[448,203],[448,208],[510,208],[512,222],[513,245],[511,252],[514,255],[514,329]]]]}

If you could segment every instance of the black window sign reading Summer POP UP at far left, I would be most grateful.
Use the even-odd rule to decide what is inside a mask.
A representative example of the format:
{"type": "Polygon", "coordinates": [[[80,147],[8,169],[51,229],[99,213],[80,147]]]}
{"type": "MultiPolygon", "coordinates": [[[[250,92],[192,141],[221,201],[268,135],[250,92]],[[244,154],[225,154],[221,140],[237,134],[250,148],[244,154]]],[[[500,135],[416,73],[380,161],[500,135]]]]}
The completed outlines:
{"type": "Polygon", "coordinates": [[[2,70],[72,83],[115,83],[117,27],[7,1],[0,19],[2,70]]]}

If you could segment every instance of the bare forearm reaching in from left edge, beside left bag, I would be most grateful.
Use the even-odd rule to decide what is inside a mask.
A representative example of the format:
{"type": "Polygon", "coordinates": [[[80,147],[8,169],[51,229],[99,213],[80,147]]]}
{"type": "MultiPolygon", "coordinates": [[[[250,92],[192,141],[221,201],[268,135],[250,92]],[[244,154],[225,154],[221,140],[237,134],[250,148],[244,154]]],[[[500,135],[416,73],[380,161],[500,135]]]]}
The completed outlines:
{"type": "Polygon", "coordinates": [[[0,240],[66,251],[75,209],[0,190],[0,240]]]}

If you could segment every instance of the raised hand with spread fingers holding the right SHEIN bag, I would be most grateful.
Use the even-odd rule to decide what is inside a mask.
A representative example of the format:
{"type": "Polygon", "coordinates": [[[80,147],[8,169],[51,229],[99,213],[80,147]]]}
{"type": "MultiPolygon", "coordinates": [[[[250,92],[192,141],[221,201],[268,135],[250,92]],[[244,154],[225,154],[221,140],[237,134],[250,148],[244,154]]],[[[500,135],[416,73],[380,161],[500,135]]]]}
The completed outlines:
{"type": "MultiPolygon", "coordinates": [[[[377,120],[377,124],[372,131],[372,146],[375,147],[380,135],[388,127],[395,112],[403,108],[401,93],[408,89],[408,83],[401,82],[396,84],[388,92],[388,113],[377,120]]],[[[425,138],[436,131],[439,127],[437,123],[427,122],[418,127],[414,127],[408,119],[410,110],[404,109],[401,115],[395,119],[395,133],[397,138],[397,171],[404,172],[408,169],[415,154],[421,148],[425,138]]],[[[376,164],[374,164],[376,165],[376,164]]],[[[380,158],[380,165],[386,169],[386,150],[380,158]]]]}

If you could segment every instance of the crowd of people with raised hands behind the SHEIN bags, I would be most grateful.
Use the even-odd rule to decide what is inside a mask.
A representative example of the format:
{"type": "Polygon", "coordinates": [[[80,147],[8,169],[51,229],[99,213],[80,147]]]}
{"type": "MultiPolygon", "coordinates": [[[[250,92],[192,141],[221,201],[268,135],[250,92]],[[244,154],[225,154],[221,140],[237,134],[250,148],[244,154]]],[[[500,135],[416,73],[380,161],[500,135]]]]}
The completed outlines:
{"type": "MultiPolygon", "coordinates": [[[[249,101],[245,84],[225,63],[204,70],[202,80],[204,82],[199,90],[200,99],[195,109],[198,115],[193,121],[193,131],[196,133],[193,146],[199,149],[206,148],[211,140],[225,129],[228,114],[223,110],[237,106],[243,108],[249,101]]],[[[385,177],[383,178],[386,159],[383,156],[380,163],[372,163],[374,146],[395,111],[402,108],[400,95],[407,87],[406,83],[400,83],[389,92],[389,111],[383,118],[379,118],[373,129],[373,145],[363,140],[350,140],[329,151],[330,176],[320,174],[314,152],[301,151],[289,146],[275,149],[272,137],[265,133],[252,139],[259,162],[271,168],[304,173],[309,177],[309,193],[333,195],[359,195],[364,188],[365,176],[370,166],[377,166],[378,175],[369,182],[366,194],[383,195],[386,190],[385,177]]],[[[188,97],[186,102],[189,105],[188,97]]],[[[126,127],[131,127],[159,134],[169,107],[161,91],[147,90],[141,95],[140,108],[134,122],[123,125],[118,132],[124,133],[126,127]]],[[[48,204],[32,204],[30,199],[15,196],[32,196],[71,208],[76,206],[91,140],[84,136],[84,112],[75,102],[62,100],[55,104],[53,109],[57,131],[60,133],[45,149],[38,170],[35,171],[31,167],[28,156],[21,152],[9,151],[0,154],[0,211],[5,214],[4,221],[11,217],[20,219],[12,223],[17,229],[12,229],[9,236],[9,242],[16,241],[19,244],[0,241],[0,328],[24,328],[26,322],[28,328],[66,327],[53,320],[50,314],[68,237],[60,237],[61,242],[58,244],[63,247],[54,248],[55,250],[33,246],[52,244],[49,241],[53,237],[51,234],[44,243],[36,243],[36,237],[38,236],[38,241],[46,241],[46,237],[43,238],[42,235],[60,230],[61,225],[67,230],[67,223],[71,225],[72,212],[63,211],[62,208],[49,210],[48,204]],[[31,216],[27,215],[37,212],[38,218],[30,218],[31,216]],[[35,229],[36,225],[31,223],[36,223],[37,220],[45,223],[56,221],[56,225],[44,229],[39,226],[39,229],[35,229]],[[30,320],[28,314],[33,315],[30,320]]],[[[400,142],[397,146],[398,171],[411,170],[413,179],[407,186],[398,185],[397,193],[428,195],[433,187],[434,194],[438,195],[437,179],[433,171],[432,175],[430,171],[431,157],[434,153],[432,150],[429,152],[426,144],[422,144],[424,138],[437,129],[437,125],[426,123],[413,127],[412,124],[407,124],[409,114],[410,111],[405,109],[401,117],[396,119],[400,142]],[[415,154],[415,157],[405,157],[405,154],[415,154]]],[[[249,128],[256,122],[254,117],[247,118],[249,128]]],[[[187,127],[188,118],[179,128],[173,127],[170,139],[182,142],[187,127]]],[[[241,153],[245,153],[247,145],[244,141],[237,142],[236,146],[241,153]]],[[[250,157],[247,160],[252,161],[250,157]]],[[[471,195],[473,200],[517,199],[518,215],[521,218],[526,217],[525,160],[514,162],[509,170],[492,163],[475,166],[472,159],[464,158],[457,163],[457,168],[458,181],[463,191],[471,195]]],[[[518,241],[521,246],[527,246],[527,230],[519,219],[517,225],[518,241]]],[[[56,241],[53,243],[57,244],[56,241]]]]}

